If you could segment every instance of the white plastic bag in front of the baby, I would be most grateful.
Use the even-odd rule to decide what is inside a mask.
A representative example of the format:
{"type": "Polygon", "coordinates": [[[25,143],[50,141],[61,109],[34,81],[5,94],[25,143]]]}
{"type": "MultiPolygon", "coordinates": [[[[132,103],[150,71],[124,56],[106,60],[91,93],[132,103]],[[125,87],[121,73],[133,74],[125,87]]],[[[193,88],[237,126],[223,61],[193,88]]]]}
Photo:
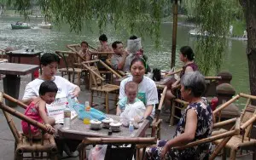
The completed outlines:
{"type": "Polygon", "coordinates": [[[125,106],[125,111],[120,115],[120,122],[124,126],[128,126],[131,118],[143,117],[146,107],[143,104],[143,101],[137,101],[134,104],[129,104],[125,106]]]}

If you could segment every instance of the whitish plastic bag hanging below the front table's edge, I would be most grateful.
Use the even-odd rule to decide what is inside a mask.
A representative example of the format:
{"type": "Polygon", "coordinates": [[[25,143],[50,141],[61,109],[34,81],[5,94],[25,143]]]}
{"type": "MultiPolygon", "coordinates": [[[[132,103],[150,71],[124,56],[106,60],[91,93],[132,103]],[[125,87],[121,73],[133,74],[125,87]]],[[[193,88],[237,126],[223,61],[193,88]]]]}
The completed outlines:
{"type": "Polygon", "coordinates": [[[108,145],[96,145],[90,149],[88,160],[104,160],[108,145]]]}

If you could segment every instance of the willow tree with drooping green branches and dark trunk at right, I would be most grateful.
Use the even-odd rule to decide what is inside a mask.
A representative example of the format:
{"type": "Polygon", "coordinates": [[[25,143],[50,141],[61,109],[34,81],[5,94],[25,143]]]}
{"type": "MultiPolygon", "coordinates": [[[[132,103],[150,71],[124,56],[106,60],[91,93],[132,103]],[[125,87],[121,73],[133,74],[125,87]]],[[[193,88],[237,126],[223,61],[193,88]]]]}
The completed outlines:
{"type": "MultiPolygon", "coordinates": [[[[29,14],[32,0],[9,0],[22,14],[29,14]]],[[[160,39],[162,9],[172,8],[170,0],[37,0],[43,14],[57,25],[68,24],[71,31],[81,31],[89,26],[90,20],[96,20],[100,31],[112,23],[115,29],[125,28],[134,33],[147,33],[156,40],[160,39]],[[143,22],[143,23],[141,23],[143,22]]],[[[199,37],[195,44],[196,60],[205,74],[219,69],[229,33],[232,6],[238,0],[183,0],[195,14],[195,24],[201,32],[207,31],[207,37],[199,37]]],[[[249,65],[250,87],[256,95],[256,6],[255,0],[240,0],[247,20],[247,57],[249,65]]],[[[171,35],[170,35],[171,36],[171,35]]],[[[156,45],[158,46],[158,45],[156,45]]]]}

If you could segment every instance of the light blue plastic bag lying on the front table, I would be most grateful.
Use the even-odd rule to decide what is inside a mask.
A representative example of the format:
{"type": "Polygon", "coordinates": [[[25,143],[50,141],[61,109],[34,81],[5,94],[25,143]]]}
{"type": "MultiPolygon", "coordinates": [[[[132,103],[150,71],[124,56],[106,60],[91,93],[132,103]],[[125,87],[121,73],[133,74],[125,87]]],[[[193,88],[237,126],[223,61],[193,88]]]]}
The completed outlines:
{"type": "Polygon", "coordinates": [[[105,114],[102,111],[98,111],[95,108],[90,108],[90,111],[84,111],[84,105],[76,104],[73,106],[73,109],[78,113],[79,119],[84,119],[89,117],[90,119],[97,119],[102,121],[106,118],[105,114]]]}

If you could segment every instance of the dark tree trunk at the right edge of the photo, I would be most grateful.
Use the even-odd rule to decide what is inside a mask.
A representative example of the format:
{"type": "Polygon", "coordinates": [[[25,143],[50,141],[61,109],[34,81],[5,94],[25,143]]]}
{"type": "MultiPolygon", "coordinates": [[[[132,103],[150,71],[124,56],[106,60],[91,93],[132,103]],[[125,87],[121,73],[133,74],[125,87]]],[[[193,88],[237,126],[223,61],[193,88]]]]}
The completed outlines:
{"type": "MultiPolygon", "coordinates": [[[[251,94],[256,95],[256,1],[240,0],[247,21],[247,59],[251,94]]],[[[256,101],[253,101],[256,105],[256,101]]]]}

